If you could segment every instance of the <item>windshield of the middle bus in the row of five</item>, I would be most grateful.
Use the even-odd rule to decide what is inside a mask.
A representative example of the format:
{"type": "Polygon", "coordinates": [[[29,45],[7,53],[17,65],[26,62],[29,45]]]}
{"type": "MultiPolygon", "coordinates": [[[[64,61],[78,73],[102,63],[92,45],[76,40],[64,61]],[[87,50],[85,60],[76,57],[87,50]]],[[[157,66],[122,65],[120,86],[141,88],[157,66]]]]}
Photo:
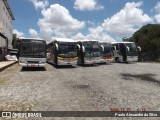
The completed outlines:
{"type": "Polygon", "coordinates": [[[82,45],[85,47],[85,57],[100,57],[98,41],[86,41],[82,45]]]}

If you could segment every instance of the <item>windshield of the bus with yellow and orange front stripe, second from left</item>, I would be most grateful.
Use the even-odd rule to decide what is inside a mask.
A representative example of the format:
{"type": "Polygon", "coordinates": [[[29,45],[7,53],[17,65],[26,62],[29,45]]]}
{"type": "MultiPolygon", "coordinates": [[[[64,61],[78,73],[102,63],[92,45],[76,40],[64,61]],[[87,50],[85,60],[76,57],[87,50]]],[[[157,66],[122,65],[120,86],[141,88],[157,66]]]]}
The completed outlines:
{"type": "Polygon", "coordinates": [[[58,57],[73,58],[77,57],[77,48],[75,42],[60,42],[58,45],[58,57]]]}

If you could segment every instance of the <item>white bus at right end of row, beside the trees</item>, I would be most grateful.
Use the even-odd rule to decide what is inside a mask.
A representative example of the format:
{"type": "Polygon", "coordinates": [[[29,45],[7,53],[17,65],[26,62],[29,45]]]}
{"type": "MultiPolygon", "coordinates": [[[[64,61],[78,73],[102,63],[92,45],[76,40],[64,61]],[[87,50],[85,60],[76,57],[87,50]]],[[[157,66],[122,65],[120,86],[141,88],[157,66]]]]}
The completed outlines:
{"type": "Polygon", "coordinates": [[[138,51],[141,51],[141,48],[134,42],[113,42],[112,47],[116,62],[136,62],[138,51]]]}

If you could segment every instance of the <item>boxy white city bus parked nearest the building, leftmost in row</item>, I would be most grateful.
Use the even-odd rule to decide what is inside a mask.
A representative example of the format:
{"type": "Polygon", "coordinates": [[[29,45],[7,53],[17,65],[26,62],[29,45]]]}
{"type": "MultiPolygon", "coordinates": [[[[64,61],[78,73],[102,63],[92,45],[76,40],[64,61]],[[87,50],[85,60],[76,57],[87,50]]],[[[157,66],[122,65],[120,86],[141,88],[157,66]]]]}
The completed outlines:
{"type": "Polygon", "coordinates": [[[18,48],[19,65],[22,67],[45,67],[45,40],[35,38],[20,38],[18,48]]]}

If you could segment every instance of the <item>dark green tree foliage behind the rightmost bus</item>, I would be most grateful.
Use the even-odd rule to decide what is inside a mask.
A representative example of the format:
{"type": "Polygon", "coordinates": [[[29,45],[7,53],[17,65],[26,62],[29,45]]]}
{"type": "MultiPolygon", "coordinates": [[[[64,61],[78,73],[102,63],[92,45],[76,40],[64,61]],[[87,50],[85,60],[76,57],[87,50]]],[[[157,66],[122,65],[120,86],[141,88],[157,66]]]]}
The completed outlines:
{"type": "Polygon", "coordinates": [[[140,60],[155,61],[160,59],[160,25],[148,24],[136,31],[129,41],[140,46],[140,60]]]}

